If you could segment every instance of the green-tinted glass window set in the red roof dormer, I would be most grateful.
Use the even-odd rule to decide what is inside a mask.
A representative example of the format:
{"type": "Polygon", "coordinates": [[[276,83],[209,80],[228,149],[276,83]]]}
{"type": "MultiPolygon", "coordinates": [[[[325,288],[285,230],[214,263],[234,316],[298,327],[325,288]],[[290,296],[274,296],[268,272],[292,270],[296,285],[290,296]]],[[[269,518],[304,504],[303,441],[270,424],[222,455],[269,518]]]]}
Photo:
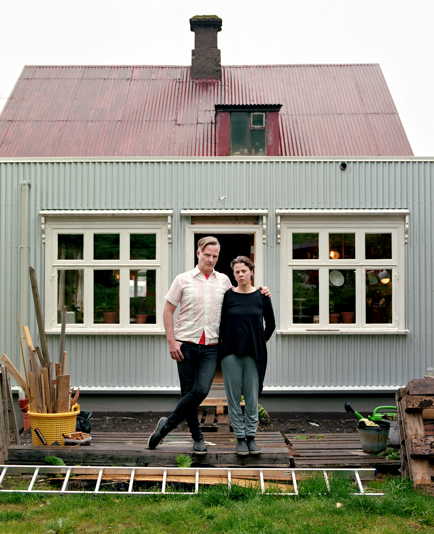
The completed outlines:
{"type": "Polygon", "coordinates": [[[230,126],[232,156],[267,154],[265,113],[232,112],[230,126]]]}

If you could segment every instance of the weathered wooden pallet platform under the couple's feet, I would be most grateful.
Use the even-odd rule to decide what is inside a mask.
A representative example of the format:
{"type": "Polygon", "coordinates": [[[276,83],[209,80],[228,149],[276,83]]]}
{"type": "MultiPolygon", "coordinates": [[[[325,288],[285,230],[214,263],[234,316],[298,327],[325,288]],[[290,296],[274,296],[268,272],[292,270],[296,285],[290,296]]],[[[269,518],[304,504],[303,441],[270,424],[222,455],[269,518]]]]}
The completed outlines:
{"type": "Polygon", "coordinates": [[[236,438],[232,433],[213,433],[206,436],[208,453],[193,454],[193,442],[189,433],[168,434],[161,445],[150,451],[147,448],[149,433],[92,434],[92,446],[33,446],[13,445],[9,447],[7,463],[14,465],[44,465],[45,456],[58,456],[68,464],[82,465],[144,465],[176,466],[178,454],[188,454],[195,465],[206,467],[244,467],[244,466],[290,466],[288,446],[279,432],[261,432],[256,443],[262,452],[258,456],[237,456],[236,438]],[[145,448],[146,447],[146,448],[145,448]]]}

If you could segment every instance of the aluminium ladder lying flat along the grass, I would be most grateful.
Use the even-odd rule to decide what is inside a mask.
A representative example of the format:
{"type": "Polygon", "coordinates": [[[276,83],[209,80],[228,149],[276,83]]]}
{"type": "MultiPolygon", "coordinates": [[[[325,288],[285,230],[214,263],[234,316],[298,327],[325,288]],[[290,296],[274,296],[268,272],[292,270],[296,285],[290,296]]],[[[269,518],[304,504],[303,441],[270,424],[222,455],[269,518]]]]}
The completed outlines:
{"type": "MultiPolygon", "coordinates": [[[[243,481],[244,485],[248,483],[260,482],[261,493],[266,495],[280,495],[280,496],[297,496],[298,486],[297,480],[307,478],[314,474],[321,474],[327,490],[330,491],[330,476],[345,476],[346,478],[354,479],[357,482],[359,492],[351,493],[352,495],[367,495],[367,496],[381,496],[384,493],[370,493],[363,489],[361,478],[371,479],[376,475],[376,469],[273,469],[273,468],[182,468],[182,467],[63,467],[63,466],[28,466],[28,465],[3,465],[0,466],[2,473],[0,475],[0,492],[2,493],[45,493],[45,494],[92,494],[105,495],[105,494],[117,494],[127,496],[140,496],[140,495],[195,495],[199,493],[200,479],[203,481],[214,479],[213,483],[227,484],[228,489],[231,489],[232,484],[239,484],[243,481]],[[32,475],[32,480],[29,483],[27,489],[3,489],[3,481],[6,475],[21,474],[32,475]],[[62,483],[61,489],[56,490],[42,490],[35,489],[35,483],[38,476],[42,475],[65,475],[65,479],[62,483]],[[86,476],[90,477],[87,480],[95,480],[96,487],[92,490],[68,490],[68,482],[70,482],[71,475],[82,476],[86,480],[86,476]],[[129,480],[128,491],[105,491],[100,489],[102,482],[110,481],[110,483],[124,482],[129,480]],[[133,491],[134,482],[155,482],[159,484],[161,482],[161,491],[133,491]],[[181,484],[194,484],[195,491],[172,491],[167,484],[168,483],[181,483],[181,484]],[[292,483],[293,491],[291,492],[278,492],[278,491],[266,491],[266,485],[273,485],[278,483],[292,483]]],[[[43,479],[42,479],[43,480],[43,479]]],[[[71,478],[72,480],[72,478],[71,478]]],[[[208,482],[209,483],[209,482],[208,482]]],[[[204,484],[204,482],[202,482],[204,484]]]]}

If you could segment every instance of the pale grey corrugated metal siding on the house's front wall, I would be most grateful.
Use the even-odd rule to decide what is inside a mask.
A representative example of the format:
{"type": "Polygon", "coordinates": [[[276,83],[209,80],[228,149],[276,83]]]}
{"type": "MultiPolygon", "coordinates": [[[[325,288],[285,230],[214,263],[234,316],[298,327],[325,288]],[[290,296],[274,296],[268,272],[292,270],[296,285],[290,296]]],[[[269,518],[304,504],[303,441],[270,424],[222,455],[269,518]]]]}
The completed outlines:
{"type": "MultiPolygon", "coordinates": [[[[173,208],[169,282],[185,266],[182,208],[268,208],[264,279],[280,320],[280,249],[275,208],[408,208],[405,335],[276,335],[269,342],[266,387],[386,387],[423,376],[434,352],[434,162],[160,161],[0,164],[0,349],[20,363],[20,184],[29,179],[29,262],[43,300],[41,209],[173,208]],[[18,313],[19,313],[18,309],[18,313]]],[[[37,326],[29,290],[29,327],[37,326]]],[[[400,325],[401,326],[401,325],[400,325]]],[[[48,336],[53,358],[58,336],[48,336]]],[[[82,386],[175,387],[165,336],[68,335],[72,380],[82,386]]]]}

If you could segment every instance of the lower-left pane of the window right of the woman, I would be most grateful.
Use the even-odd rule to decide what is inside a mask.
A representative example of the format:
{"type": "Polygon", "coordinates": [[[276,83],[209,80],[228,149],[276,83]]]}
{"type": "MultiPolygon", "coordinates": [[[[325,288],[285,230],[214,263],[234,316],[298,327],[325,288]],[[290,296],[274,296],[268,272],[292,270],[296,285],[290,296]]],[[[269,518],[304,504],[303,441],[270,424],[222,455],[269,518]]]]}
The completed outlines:
{"type": "Polygon", "coordinates": [[[319,322],[319,279],[317,270],[292,271],[292,323],[319,322]]]}

